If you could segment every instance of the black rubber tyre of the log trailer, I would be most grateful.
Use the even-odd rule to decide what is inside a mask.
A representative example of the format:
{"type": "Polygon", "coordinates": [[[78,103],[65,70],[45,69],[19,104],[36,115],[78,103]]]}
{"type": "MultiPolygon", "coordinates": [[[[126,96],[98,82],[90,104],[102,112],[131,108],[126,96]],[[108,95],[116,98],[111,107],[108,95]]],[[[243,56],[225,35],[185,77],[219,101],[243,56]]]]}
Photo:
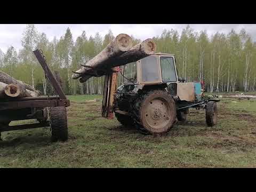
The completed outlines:
{"type": "Polygon", "coordinates": [[[51,107],[50,114],[52,141],[67,141],[68,123],[66,107],[51,107]]]}

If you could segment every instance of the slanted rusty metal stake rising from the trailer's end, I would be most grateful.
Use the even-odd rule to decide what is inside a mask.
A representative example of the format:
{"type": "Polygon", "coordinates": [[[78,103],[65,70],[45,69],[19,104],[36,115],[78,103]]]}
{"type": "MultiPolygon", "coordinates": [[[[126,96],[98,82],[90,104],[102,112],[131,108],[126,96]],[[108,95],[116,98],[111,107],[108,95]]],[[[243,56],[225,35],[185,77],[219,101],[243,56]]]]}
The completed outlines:
{"type": "Polygon", "coordinates": [[[45,62],[43,55],[41,54],[41,52],[39,50],[35,50],[33,51],[34,54],[36,55],[36,58],[38,60],[38,62],[40,63],[40,65],[42,66],[42,68],[44,69],[44,72],[47,74],[47,79],[51,82],[54,90],[56,91],[56,93],[58,93],[58,95],[60,96],[60,99],[67,99],[66,95],[64,94],[64,92],[62,91],[60,85],[58,84],[58,82],[56,81],[55,77],[53,76],[51,70],[49,69],[47,63],[45,62]]]}

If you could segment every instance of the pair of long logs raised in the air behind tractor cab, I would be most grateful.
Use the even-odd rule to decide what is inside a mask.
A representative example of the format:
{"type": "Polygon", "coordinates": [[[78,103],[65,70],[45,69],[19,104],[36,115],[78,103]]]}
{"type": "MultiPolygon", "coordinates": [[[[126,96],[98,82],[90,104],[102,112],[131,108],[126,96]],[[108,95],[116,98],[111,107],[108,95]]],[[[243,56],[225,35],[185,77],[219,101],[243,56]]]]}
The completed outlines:
{"type": "Polygon", "coordinates": [[[119,34],[98,55],[81,65],[82,68],[73,71],[73,79],[84,83],[91,77],[100,77],[115,72],[112,68],[138,61],[154,54],[156,44],[152,39],[132,46],[132,38],[127,34],[119,34]]]}

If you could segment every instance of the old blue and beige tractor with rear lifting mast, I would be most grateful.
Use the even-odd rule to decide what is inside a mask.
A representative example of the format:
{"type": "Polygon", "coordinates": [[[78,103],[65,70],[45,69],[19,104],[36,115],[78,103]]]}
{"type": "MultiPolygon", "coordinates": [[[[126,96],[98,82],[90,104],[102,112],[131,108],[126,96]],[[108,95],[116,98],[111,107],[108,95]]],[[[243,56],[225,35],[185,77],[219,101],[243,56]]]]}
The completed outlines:
{"type": "Polygon", "coordinates": [[[175,120],[186,121],[189,108],[205,109],[207,126],[217,123],[217,98],[205,97],[202,82],[179,78],[173,54],[155,53],[123,69],[117,88],[117,73],[105,76],[102,116],[145,134],[169,131],[175,120]],[[123,73],[122,73],[123,71],[123,73]]]}

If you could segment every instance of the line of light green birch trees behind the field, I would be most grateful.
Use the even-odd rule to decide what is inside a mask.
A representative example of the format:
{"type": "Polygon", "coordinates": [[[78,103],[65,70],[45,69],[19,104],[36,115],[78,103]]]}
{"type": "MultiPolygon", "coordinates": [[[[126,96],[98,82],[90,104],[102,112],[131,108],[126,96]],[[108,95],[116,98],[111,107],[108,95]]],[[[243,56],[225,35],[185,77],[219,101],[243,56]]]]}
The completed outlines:
{"type": "MultiPolygon", "coordinates": [[[[132,35],[133,43],[141,39],[132,35]]],[[[46,93],[42,67],[33,51],[41,49],[52,71],[59,71],[65,94],[102,94],[104,77],[92,77],[86,83],[71,78],[72,71],[80,68],[114,39],[111,30],[104,37],[99,33],[87,37],[86,31],[75,41],[71,30],[59,39],[49,41],[46,34],[38,33],[35,25],[27,25],[22,33],[22,49],[13,46],[6,53],[0,50],[0,68],[5,73],[46,93]]],[[[204,81],[207,92],[255,91],[256,43],[245,29],[236,33],[207,35],[206,30],[195,32],[189,25],[182,30],[164,29],[153,37],[157,52],[175,55],[178,75],[188,82],[204,81]]],[[[143,40],[143,39],[142,39],[143,40]]],[[[123,77],[118,75],[118,85],[123,77]]]]}

